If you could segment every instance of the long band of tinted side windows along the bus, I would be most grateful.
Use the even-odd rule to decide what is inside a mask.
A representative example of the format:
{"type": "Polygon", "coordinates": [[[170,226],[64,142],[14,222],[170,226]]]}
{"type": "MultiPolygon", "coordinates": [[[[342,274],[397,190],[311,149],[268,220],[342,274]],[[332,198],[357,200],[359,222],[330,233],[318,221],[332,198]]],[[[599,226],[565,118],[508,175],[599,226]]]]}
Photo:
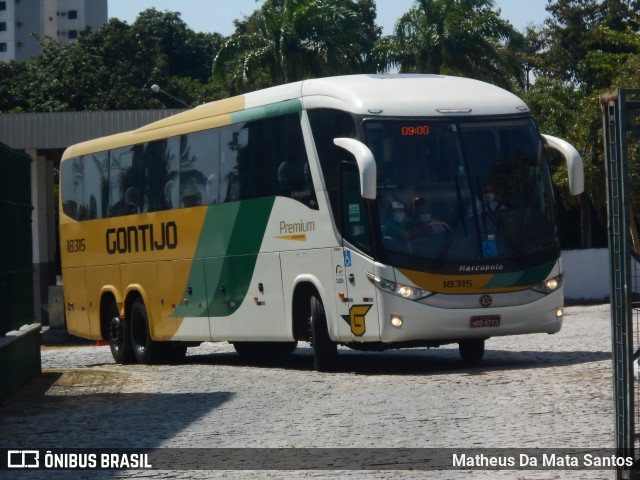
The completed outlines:
{"type": "Polygon", "coordinates": [[[271,196],[318,208],[297,113],[62,164],[63,209],[76,220],[271,196]]]}

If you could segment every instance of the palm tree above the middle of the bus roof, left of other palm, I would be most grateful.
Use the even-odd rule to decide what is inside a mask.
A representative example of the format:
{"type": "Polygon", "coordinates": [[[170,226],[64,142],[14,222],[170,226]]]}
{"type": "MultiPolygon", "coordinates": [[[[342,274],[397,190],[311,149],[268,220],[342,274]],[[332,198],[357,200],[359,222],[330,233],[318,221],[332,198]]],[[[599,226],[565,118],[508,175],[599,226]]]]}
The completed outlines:
{"type": "Polygon", "coordinates": [[[267,0],[223,44],[213,66],[231,94],[370,67],[380,36],[373,0],[267,0]],[[373,12],[373,15],[371,14],[373,12]]]}

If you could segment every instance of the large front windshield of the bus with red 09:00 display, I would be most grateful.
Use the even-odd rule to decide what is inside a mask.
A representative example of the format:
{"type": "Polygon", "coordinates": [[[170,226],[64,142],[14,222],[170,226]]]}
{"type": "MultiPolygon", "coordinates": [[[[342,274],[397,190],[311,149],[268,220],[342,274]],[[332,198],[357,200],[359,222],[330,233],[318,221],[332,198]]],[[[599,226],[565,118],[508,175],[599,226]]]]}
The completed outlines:
{"type": "Polygon", "coordinates": [[[558,247],[549,169],[530,118],[368,120],[382,245],[437,263],[558,247]]]}

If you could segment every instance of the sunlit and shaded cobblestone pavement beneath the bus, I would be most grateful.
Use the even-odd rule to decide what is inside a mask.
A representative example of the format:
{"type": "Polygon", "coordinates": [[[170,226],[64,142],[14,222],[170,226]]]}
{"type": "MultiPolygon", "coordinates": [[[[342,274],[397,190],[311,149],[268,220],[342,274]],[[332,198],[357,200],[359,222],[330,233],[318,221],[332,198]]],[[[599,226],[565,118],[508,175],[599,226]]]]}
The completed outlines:
{"type": "MultiPolygon", "coordinates": [[[[108,347],[43,347],[42,377],[2,404],[3,448],[610,448],[608,305],[568,307],[556,335],[457,346],[341,350],[334,373],[301,345],[250,363],[226,343],[180,365],[116,365],[108,347]]],[[[614,478],[612,471],[27,472],[24,478],[614,478]],[[72,473],[72,475],[71,475],[72,473]]]]}

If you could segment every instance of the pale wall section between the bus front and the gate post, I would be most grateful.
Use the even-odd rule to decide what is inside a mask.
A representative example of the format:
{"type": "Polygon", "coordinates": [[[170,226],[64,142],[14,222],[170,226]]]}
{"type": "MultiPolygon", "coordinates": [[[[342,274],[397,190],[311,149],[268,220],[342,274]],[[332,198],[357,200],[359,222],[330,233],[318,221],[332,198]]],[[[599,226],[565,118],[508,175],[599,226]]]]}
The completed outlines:
{"type": "Polygon", "coordinates": [[[562,263],[567,301],[608,301],[609,252],[606,248],[565,250],[562,263]]]}

